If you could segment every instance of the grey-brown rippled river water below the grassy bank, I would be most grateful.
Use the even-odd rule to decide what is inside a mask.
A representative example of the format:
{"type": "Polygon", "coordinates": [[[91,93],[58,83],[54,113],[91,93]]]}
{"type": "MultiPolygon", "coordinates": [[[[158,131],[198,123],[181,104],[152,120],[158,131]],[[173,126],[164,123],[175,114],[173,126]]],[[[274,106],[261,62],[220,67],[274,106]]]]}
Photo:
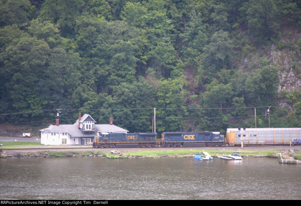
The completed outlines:
{"type": "Polygon", "coordinates": [[[301,165],[271,158],[0,159],[0,199],[301,199],[301,165]]]}

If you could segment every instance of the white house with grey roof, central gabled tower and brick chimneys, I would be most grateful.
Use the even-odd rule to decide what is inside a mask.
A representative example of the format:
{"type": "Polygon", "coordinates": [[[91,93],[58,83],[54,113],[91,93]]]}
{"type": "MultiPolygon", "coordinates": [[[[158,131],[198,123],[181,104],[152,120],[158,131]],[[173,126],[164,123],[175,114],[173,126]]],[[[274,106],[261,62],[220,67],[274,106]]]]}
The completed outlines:
{"type": "Polygon", "coordinates": [[[99,133],[129,132],[113,125],[112,118],[110,118],[110,124],[97,125],[90,115],[84,114],[81,117],[80,113],[78,120],[73,125],[60,125],[59,119],[56,119],[55,125],[39,131],[41,131],[41,144],[44,145],[90,145],[99,133]]]}

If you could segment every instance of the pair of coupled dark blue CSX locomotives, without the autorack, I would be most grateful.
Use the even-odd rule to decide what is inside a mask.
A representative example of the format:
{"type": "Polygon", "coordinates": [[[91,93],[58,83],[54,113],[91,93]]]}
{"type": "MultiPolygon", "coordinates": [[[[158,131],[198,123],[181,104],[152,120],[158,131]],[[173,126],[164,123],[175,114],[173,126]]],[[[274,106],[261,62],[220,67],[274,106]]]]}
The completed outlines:
{"type": "Polygon", "coordinates": [[[223,135],[219,132],[163,132],[157,133],[102,133],[96,136],[93,147],[115,146],[222,146],[223,135]]]}

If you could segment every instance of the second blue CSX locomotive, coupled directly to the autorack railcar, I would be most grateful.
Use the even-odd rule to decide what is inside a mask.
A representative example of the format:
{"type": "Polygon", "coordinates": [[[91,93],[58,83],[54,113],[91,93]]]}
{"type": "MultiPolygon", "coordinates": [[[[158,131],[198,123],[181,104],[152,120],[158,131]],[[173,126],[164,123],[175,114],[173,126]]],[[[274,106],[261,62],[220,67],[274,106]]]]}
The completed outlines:
{"type": "Polygon", "coordinates": [[[162,146],[222,146],[224,137],[219,132],[163,132],[162,146]]]}

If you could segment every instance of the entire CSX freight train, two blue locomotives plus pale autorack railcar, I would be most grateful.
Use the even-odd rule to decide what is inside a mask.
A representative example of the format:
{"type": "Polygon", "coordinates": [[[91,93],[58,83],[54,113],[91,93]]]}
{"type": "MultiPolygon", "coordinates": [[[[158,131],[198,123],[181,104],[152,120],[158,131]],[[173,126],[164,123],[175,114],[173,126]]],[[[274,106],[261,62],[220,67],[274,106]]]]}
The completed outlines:
{"type": "Polygon", "coordinates": [[[93,147],[115,146],[238,146],[301,145],[301,128],[228,128],[227,137],[219,132],[102,133],[93,140],[93,147]]]}

